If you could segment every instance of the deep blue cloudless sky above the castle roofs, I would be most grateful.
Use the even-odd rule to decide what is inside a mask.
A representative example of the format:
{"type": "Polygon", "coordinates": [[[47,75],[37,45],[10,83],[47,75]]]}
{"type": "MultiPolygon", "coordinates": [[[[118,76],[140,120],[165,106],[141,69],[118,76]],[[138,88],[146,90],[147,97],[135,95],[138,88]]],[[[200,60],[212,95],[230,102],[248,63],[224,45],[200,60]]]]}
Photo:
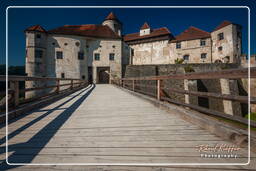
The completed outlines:
{"type": "MultiPolygon", "coordinates": [[[[26,3],[16,3],[13,4],[4,4],[4,5],[53,5],[49,3],[50,1],[42,1],[41,3],[33,1],[30,3],[30,0],[26,0],[26,3]],[[37,2],[37,3],[36,3],[37,2]],[[46,3],[48,2],[48,3],[46,3]]],[[[54,5],[57,5],[55,1],[54,5]]],[[[82,3],[77,2],[73,4],[65,3],[63,0],[62,4],[58,5],[111,5],[110,3],[99,2],[94,4],[97,1],[91,3],[82,3]]],[[[73,1],[76,2],[76,1],[73,1]]],[[[90,2],[90,1],[87,1],[90,2]]],[[[109,2],[109,1],[108,1],[109,2]]],[[[112,1],[112,4],[117,1],[112,1]]],[[[148,1],[151,2],[151,1],[148,1]]],[[[171,1],[171,4],[163,4],[152,1],[152,3],[147,3],[144,5],[181,5],[176,1],[171,1]],[[175,2],[175,4],[174,4],[175,2]]],[[[182,1],[181,1],[182,2],[182,1]]],[[[191,5],[191,1],[183,1],[182,5],[191,5]]],[[[192,5],[199,5],[194,1],[192,5]]],[[[201,3],[203,1],[200,1],[201,3]]],[[[209,1],[210,2],[210,1],[209,1]]],[[[215,3],[207,3],[202,5],[217,5],[215,3]]],[[[221,2],[221,1],[220,1],[221,2]]],[[[223,2],[226,2],[223,0],[223,2]]],[[[223,4],[222,2],[222,4],[223,4]]],[[[228,3],[230,4],[229,1],[228,3]]],[[[253,5],[245,4],[247,1],[236,1],[234,5],[253,5]],[[238,3],[240,2],[240,4],[238,3]],[[243,2],[243,3],[241,3],[243,2]]],[[[220,3],[219,3],[220,4],[220,3]]],[[[143,5],[143,2],[137,4],[130,3],[116,3],[115,5],[143,5]]],[[[223,4],[225,5],[225,4],[223,4]]],[[[230,4],[233,5],[233,4],[230,4]]],[[[255,4],[254,4],[255,5],[255,4]]],[[[1,19],[4,19],[5,12],[3,11],[4,6],[1,6],[1,19]]],[[[172,34],[178,35],[189,26],[195,26],[202,30],[211,32],[218,24],[223,20],[229,20],[231,22],[242,25],[243,27],[243,52],[247,53],[248,50],[248,10],[246,8],[65,8],[65,9],[56,9],[56,8],[11,8],[8,10],[8,45],[9,45],[9,55],[8,63],[9,65],[24,65],[25,63],[25,36],[24,30],[32,25],[40,24],[46,30],[53,29],[62,25],[80,25],[80,24],[101,24],[104,18],[108,15],[109,12],[113,11],[119,20],[123,23],[123,34],[138,32],[141,25],[147,21],[152,28],[167,27],[172,34]]],[[[252,7],[252,19],[255,16],[255,9],[252,7]]],[[[255,18],[254,18],[255,20],[255,18]]],[[[252,20],[252,30],[255,29],[255,22],[252,20]]],[[[4,22],[1,20],[1,30],[4,30],[4,22]]],[[[0,63],[5,63],[5,46],[2,46],[4,42],[5,34],[3,32],[1,35],[1,44],[0,44],[0,63]],[[3,58],[2,58],[3,57],[3,58]]],[[[255,34],[251,35],[251,44],[255,44],[255,34]]],[[[251,45],[251,53],[256,53],[255,46],[251,45]]]]}

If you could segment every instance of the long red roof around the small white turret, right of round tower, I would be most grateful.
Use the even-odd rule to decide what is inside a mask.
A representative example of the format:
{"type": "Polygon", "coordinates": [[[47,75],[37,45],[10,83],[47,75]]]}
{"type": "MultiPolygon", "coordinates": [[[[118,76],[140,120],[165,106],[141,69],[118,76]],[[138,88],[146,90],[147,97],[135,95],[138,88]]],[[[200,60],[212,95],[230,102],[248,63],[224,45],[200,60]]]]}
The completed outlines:
{"type": "Polygon", "coordinates": [[[153,29],[152,32],[148,35],[140,36],[140,33],[131,33],[124,36],[124,41],[133,41],[133,40],[140,40],[140,39],[147,39],[153,37],[159,37],[164,35],[170,35],[171,32],[166,27],[153,29]]]}

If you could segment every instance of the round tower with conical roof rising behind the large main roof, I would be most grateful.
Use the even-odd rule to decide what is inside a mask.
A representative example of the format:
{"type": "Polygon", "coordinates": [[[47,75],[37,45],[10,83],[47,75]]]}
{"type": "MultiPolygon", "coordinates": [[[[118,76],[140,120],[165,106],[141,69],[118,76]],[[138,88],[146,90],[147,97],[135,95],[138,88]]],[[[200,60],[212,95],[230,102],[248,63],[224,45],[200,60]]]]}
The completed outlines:
{"type": "Polygon", "coordinates": [[[109,26],[119,36],[122,35],[122,23],[118,20],[113,12],[111,12],[103,21],[102,25],[109,26]]]}

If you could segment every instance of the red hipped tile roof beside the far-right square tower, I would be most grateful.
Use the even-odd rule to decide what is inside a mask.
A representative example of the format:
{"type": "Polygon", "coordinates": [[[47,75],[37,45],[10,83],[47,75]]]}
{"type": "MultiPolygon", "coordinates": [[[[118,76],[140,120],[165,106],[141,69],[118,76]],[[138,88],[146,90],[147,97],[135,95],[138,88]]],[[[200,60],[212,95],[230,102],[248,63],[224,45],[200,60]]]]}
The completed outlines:
{"type": "Polygon", "coordinates": [[[172,40],[172,42],[202,39],[202,38],[208,38],[208,37],[211,37],[210,33],[203,31],[199,28],[190,26],[187,30],[185,30],[184,32],[176,36],[175,40],[172,40]]]}

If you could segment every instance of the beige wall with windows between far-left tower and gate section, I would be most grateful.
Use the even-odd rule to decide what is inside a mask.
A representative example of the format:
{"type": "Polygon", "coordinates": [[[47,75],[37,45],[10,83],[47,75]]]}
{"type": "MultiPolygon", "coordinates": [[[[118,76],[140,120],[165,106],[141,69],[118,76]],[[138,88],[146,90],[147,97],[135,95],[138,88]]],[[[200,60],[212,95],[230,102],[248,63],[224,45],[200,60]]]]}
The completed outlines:
{"type": "Polygon", "coordinates": [[[69,35],[49,35],[47,39],[47,76],[61,78],[87,79],[86,38],[69,35]],[[79,44],[77,46],[77,44],[79,44]],[[57,59],[56,52],[62,51],[63,59],[57,59]],[[78,52],[84,53],[84,59],[78,59],[78,52]]]}

